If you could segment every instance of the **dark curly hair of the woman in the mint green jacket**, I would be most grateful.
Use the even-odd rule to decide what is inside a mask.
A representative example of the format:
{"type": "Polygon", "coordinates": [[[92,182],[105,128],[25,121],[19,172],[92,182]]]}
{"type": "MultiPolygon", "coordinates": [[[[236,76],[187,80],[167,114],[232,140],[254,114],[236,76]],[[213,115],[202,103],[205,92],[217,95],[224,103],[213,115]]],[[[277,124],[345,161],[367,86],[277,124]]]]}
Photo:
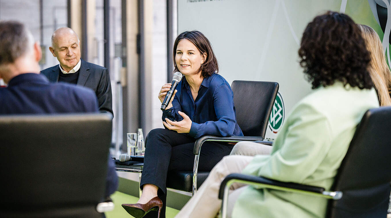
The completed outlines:
{"type": "Polygon", "coordinates": [[[328,11],[308,23],[298,51],[312,89],[335,81],[351,87],[371,89],[367,71],[370,62],[362,33],[346,14],[328,11]]]}

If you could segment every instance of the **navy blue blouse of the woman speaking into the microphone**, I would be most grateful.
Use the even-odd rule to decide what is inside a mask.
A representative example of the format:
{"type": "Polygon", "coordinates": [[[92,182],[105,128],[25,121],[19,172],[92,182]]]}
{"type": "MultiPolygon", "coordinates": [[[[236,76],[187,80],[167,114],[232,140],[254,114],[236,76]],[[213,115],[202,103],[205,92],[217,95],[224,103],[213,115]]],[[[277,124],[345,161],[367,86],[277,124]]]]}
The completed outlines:
{"type": "Polygon", "coordinates": [[[199,138],[202,135],[242,136],[242,130],[236,122],[233,92],[228,82],[219,74],[205,77],[193,99],[189,83],[183,76],[177,86],[178,92],[172,101],[172,108],[163,111],[165,118],[181,121],[181,111],[192,120],[189,136],[199,138]]]}

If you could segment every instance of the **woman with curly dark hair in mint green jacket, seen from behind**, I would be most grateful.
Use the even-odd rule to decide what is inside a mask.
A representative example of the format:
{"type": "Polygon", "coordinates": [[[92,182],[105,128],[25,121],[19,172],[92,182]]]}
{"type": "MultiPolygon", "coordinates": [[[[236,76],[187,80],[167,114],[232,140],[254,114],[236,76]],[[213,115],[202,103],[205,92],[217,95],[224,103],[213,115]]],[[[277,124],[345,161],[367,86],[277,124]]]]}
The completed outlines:
{"type": "MultiPolygon", "coordinates": [[[[308,23],[299,57],[314,92],[292,108],[271,154],[224,157],[176,217],[215,217],[221,206],[217,199],[220,183],[231,173],[330,190],[362,115],[379,106],[367,71],[369,52],[353,20],[329,11],[308,23]]],[[[267,146],[254,142],[238,145],[267,146]]],[[[237,184],[233,187],[235,191],[228,198],[229,217],[325,217],[325,198],[237,184]]]]}

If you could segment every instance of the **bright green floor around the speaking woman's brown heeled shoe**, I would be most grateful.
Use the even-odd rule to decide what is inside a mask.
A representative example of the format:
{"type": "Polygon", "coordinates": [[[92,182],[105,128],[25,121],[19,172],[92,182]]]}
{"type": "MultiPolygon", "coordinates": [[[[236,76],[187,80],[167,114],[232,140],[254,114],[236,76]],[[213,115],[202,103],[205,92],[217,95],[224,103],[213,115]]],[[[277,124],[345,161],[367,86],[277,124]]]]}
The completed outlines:
{"type": "MultiPolygon", "coordinates": [[[[122,208],[121,204],[134,204],[137,202],[138,197],[134,197],[132,195],[127,195],[125,193],[116,191],[113,195],[111,195],[111,199],[114,202],[114,210],[105,213],[106,218],[132,218],[133,216],[129,215],[124,208],[122,208]]],[[[167,207],[166,209],[166,218],[173,218],[179,211],[173,209],[171,207],[167,207]]]]}

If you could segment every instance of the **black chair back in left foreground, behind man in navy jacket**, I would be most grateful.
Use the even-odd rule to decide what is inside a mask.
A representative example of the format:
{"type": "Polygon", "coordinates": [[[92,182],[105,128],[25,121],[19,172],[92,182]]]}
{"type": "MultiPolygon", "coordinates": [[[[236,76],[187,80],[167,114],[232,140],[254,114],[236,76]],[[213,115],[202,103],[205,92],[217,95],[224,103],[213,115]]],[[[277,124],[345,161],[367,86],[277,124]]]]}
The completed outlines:
{"type": "Polygon", "coordinates": [[[0,116],[0,217],[98,218],[111,115],[0,116]]]}

